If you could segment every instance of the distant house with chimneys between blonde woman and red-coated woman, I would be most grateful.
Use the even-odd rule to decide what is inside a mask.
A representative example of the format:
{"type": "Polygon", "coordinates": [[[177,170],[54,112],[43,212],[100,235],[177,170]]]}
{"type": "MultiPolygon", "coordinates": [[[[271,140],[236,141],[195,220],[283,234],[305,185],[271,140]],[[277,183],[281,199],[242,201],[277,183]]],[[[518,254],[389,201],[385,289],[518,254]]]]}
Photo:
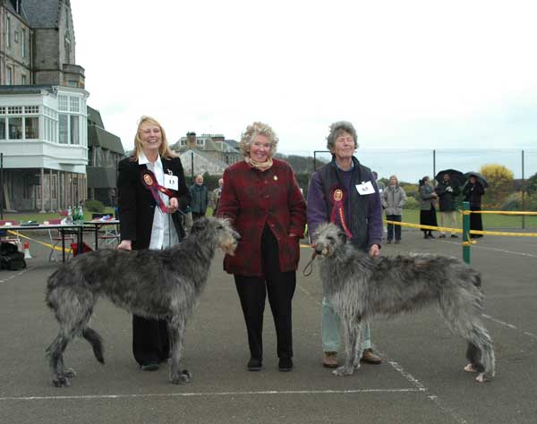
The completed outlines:
{"type": "Polygon", "coordinates": [[[184,174],[221,175],[228,165],[243,159],[235,140],[226,140],[222,134],[187,132],[171,146],[183,162],[184,174]]]}

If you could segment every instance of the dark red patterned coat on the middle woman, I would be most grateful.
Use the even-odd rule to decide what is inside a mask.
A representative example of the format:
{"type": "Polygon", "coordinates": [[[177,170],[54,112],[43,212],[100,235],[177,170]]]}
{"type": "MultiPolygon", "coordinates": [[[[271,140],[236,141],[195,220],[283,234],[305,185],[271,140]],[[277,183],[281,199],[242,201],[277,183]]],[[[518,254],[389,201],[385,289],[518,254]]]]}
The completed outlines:
{"type": "Polygon", "coordinates": [[[244,161],[227,167],[217,216],[231,219],[241,234],[234,256],[226,255],[224,259],[228,273],[263,275],[260,255],[265,224],[277,239],[280,270],[295,271],[298,267],[306,202],[286,162],[273,159],[273,165],[265,172],[244,161]]]}

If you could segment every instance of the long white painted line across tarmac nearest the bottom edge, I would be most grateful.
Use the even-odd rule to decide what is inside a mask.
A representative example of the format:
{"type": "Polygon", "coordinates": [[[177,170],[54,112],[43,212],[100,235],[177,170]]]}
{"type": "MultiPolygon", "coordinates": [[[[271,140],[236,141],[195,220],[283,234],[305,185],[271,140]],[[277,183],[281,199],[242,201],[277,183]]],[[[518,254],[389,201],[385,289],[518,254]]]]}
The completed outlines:
{"type": "Polygon", "coordinates": [[[419,388],[396,389],[357,389],[357,390],[264,390],[258,392],[207,392],[207,393],[149,393],[149,394],[87,394],[72,396],[5,396],[5,401],[64,401],[64,400],[94,400],[94,399],[140,399],[155,397],[194,397],[194,396],[241,396],[263,394],[360,394],[360,393],[417,393],[424,390],[419,388]]]}

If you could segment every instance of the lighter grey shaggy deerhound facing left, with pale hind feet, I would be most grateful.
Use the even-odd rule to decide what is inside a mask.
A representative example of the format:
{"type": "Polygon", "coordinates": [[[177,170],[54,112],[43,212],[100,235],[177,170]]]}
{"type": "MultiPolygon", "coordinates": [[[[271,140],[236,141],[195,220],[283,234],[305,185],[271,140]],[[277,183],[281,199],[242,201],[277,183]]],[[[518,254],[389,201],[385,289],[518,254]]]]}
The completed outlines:
{"type": "Polygon", "coordinates": [[[334,374],[347,376],[359,368],[358,347],[371,318],[436,304],[447,325],[468,341],[465,370],[478,372],[478,382],[494,377],[492,341],[481,320],[481,277],[472,267],[439,255],[371,258],[347,242],[334,224],[320,225],[313,245],[321,255],[324,295],[341,319],[345,342],[344,364],[334,374]]]}

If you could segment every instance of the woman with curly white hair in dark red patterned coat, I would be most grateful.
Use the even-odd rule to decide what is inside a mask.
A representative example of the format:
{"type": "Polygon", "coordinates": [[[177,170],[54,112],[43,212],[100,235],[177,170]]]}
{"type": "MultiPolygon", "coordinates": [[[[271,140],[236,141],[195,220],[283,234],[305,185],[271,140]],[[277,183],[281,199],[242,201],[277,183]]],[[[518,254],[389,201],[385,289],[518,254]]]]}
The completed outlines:
{"type": "Polygon", "coordinates": [[[278,369],[293,369],[291,302],[306,203],[291,167],[273,158],[277,141],[265,123],[246,128],[240,141],[244,160],[226,168],[217,212],[231,219],[241,234],[234,256],[224,259],[224,269],[234,275],[241,300],[251,371],[262,368],[267,293],[276,326],[278,369]]]}

